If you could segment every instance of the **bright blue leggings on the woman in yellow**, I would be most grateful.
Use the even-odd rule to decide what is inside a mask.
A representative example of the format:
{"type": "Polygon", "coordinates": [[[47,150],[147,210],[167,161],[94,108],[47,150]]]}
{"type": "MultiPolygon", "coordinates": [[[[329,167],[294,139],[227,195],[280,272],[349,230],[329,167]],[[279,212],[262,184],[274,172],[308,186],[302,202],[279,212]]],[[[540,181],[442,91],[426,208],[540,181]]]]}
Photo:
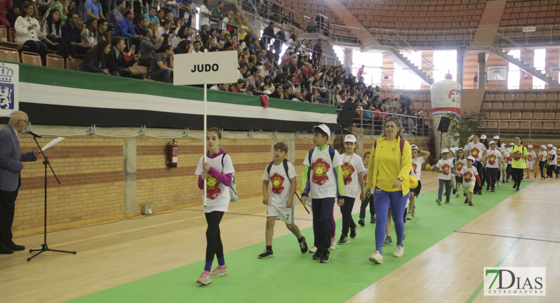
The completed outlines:
{"type": "Polygon", "coordinates": [[[375,250],[379,250],[381,253],[383,241],[385,240],[385,223],[387,223],[389,206],[391,206],[391,216],[393,216],[393,222],[395,223],[396,245],[403,245],[403,213],[404,208],[407,207],[408,196],[410,193],[403,197],[402,190],[397,190],[396,192],[385,192],[385,190],[381,190],[376,187],[374,195],[375,212],[377,215],[377,223],[375,224],[375,250]]]}

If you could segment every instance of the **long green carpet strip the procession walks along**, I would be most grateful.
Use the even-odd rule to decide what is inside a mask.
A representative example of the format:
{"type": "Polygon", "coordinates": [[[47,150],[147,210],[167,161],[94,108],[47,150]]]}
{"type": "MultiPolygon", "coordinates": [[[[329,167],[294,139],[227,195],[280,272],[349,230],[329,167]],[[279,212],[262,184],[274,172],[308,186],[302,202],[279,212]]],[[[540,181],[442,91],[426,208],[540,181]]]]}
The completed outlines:
{"type": "MultiPolygon", "coordinates": [[[[523,181],[521,188],[530,183],[523,181]]],[[[474,206],[464,204],[462,196],[438,206],[437,190],[421,194],[416,216],[405,223],[404,257],[393,257],[393,227],[394,242],[383,248],[383,264],[368,261],[375,250],[375,224],[368,223],[367,218],[366,226],[358,226],[357,237],[349,244],[338,245],[326,264],[311,260],[309,253],[301,254],[297,240],[289,234],[274,239],[273,258],[256,258],[264,242],[227,253],[228,275],[214,278],[207,286],[195,283],[204,267],[204,261],[200,261],[69,302],[344,302],[515,193],[511,183],[496,188],[495,193],[483,190],[483,195],[475,195],[474,206]]],[[[353,217],[357,222],[358,214],[353,217]]],[[[263,240],[264,223],[263,218],[263,240]]],[[[276,229],[283,228],[283,222],[277,221],[276,229]]],[[[339,219],[337,240],[341,228],[339,219]]],[[[302,234],[312,246],[312,229],[302,230],[302,234]]],[[[214,260],[213,268],[216,265],[214,260]]]]}

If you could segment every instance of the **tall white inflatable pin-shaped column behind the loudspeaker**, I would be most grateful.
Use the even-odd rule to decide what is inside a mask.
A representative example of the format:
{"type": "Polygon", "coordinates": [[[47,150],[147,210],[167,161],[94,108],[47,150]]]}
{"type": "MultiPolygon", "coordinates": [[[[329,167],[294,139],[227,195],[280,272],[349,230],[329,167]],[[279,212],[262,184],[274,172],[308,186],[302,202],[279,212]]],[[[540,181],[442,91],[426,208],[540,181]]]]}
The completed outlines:
{"type": "MultiPolygon", "coordinates": [[[[451,74],[445,75],[445,80],[433,83],[430,87],[432,95],[432,119],[433,119],[433,137],[437,148],[449,148],[456,146],[458,142],[451,136],[447,137],[444,133],[441,137],[437,131],[440,126],[441,118],[447,114],[456,114],[457,119],[461,115],[461,85],[459,82],[453,81],[451,74]]],[[[439,151],[437,151],[439,154],[439,151]]]]}

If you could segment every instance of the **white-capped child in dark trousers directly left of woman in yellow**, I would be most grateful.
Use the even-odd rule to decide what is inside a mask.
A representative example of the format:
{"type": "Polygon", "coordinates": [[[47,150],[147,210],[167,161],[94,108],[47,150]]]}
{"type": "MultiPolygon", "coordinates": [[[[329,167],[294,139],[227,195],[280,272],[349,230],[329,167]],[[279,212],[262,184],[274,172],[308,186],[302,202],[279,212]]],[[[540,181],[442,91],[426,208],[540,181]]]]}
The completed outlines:
{"type": "Polygon", "coordinates": [[[346,153],[340,155],[342,160],[342,176],[344,179],[344,205],[340,206],[342,213],[342,234],[338,244],[348,244],[348,230],[350,230],[350,237],[356,237],[356,223],[352,220],[352,208],[354,208],[354,201],[358,194],[358,189],[361,190],[360,200],[366,199],[366,189],[363,180],[363,172],[366,170],[363,167],[362,158],[354,153],[356,148],[356,137],[349,134],[344,137],[344,148],[346,153]]]}

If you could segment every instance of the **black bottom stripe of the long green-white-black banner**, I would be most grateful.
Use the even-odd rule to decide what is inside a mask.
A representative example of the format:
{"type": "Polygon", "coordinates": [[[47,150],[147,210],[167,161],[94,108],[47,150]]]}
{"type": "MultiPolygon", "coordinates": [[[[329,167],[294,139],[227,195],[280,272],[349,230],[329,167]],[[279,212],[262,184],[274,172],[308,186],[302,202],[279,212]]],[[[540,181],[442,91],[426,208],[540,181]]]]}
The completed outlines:
{"type": "MultiPolygon", "coordinates": [[[[138,109],[86,108],[81,106],[50,105],[20,102],[20,110],[29,115],[34,125],[75,125],[95,124],[101,127],[147,127],[155,128],[195,128],[202,129],[204,117],[195,114],[165,113],[161,111],[138,109]]],[[[234,116],[208,115],[208,127],[227,130],[267,130],[280,132],[311,131],[321,122],[297,122],[264,118],[245,118],[234,116]]],[[[0,118],[0,123],[7,123],[8,118],[0,118]]],[[[335,129],[336,124],[326,124],[335,129]]]]}

